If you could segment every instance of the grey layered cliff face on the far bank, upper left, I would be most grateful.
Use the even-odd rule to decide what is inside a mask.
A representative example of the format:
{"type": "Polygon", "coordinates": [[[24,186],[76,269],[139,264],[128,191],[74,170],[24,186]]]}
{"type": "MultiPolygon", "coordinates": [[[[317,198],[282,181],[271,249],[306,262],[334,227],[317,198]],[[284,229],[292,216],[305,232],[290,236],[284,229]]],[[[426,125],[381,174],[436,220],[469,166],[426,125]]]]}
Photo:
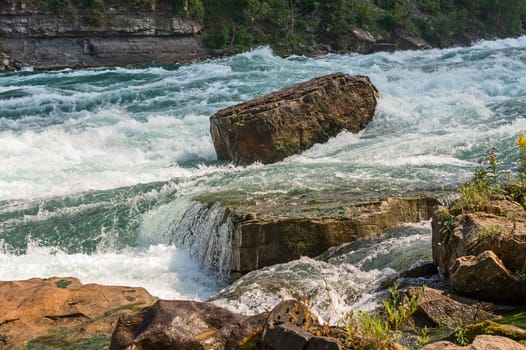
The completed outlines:
{"type": "Polygon", "coordinates": [[[188,62],[207,51],[201,26],[170,8],[138,9],[116,2],[100,23],[58,17],[26,1],[0,4],[0,36],[13,60],[36,69],[188,62]]]}

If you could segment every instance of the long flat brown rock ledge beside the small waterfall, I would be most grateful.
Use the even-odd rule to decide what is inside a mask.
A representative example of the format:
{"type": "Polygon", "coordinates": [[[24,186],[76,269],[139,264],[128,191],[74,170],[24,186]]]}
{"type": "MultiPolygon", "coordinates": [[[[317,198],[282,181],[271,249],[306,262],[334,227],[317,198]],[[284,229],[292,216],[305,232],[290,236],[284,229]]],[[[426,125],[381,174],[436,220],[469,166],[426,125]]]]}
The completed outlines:
{"type": "Polygon", "coordinates": [[[238,218],[233,224],[231,270],[244,274],[301,256],[314,257],[330,247],[373,237],[402,223],[425,220],[435,203],[432,197],[389,198],[347,206],[340,201],[343,211],[337,213],[320,210],[284,216],[266,212],[258,202],[260,213],[255,219],[242,214],[253,211],[250,205],[227,205],[231,215],[238,218]]]}

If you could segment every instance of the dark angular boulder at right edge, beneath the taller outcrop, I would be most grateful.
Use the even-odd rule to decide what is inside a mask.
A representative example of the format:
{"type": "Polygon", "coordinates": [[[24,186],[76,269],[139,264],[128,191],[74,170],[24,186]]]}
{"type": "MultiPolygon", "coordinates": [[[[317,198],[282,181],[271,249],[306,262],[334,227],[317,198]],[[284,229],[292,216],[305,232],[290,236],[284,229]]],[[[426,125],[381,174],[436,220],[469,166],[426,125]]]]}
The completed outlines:
{"type": "Polygon", "coordinates": [[[526,301],[526,281],[510,272],[491,250],[458,258],[449,273],[451,286],[459,293],[506,303],[526,301]]]}

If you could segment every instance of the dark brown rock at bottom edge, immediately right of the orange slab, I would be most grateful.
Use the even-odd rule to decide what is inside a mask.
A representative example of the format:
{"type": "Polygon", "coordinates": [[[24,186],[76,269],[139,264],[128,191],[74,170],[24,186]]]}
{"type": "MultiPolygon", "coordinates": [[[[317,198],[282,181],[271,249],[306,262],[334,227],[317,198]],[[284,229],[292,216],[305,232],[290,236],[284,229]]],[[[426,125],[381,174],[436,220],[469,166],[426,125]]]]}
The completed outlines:
{"type": "Polygon", "coordinates": [[[159,300],[121,318],[110,349],[238,349],[257,342],[264,317],[242,316],[210,303],[159,300]]]}

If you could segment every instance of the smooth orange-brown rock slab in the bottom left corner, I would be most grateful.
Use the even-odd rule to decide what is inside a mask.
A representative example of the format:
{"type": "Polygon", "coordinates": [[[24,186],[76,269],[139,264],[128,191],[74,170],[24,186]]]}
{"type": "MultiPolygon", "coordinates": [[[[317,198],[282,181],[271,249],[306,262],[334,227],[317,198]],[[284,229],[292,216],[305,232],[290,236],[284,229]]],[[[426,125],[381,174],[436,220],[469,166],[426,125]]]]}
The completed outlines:
{"type": "Polygon", "coordinates": [[[120,315],[154,301],[143,288],[82,285],[70,277],[0,282],[0,348],[107,346],[120,315]]]}

